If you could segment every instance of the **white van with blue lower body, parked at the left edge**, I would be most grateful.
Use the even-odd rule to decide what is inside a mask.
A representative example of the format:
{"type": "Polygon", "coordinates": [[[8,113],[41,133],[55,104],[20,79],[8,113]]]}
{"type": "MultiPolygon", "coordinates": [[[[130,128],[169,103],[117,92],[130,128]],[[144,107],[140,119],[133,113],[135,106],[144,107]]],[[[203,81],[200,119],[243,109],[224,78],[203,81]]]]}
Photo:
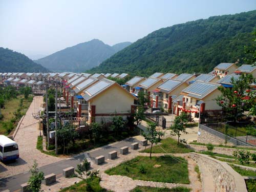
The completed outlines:
{"type": "Polygon", "coordinates": [[[19,158],[18,145],[15,141],[0,135],[0,160],[9,161],[19,158]]]}

